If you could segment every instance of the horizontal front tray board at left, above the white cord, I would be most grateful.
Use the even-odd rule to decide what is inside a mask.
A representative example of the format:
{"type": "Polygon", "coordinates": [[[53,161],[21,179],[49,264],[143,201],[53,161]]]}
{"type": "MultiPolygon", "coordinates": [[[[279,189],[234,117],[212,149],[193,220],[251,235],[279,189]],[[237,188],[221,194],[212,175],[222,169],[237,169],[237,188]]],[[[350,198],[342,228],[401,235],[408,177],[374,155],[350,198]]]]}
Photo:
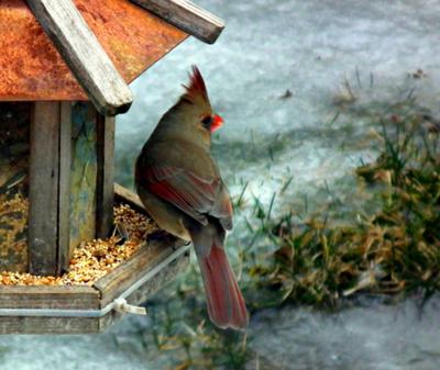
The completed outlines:
{"type": "Polygon", "coordinates": [[[0,285],[0,309],[99,310],[99,292],[78,285],[0,285]]]}

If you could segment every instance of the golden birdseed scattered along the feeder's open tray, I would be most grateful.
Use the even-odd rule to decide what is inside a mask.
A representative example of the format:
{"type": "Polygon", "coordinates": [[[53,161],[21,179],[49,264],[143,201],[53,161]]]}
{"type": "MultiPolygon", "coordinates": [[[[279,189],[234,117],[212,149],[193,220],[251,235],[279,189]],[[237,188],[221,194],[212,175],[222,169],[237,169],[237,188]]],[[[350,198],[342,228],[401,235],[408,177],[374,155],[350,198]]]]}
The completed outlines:
{"type": "Polygon", "coordinates": [[[107,239],[81,243],[75,249],[69,271],[62,277],[40,277],[30,273],[3,271],[2,285],[91,285],[107,272],[132,256],[144,243],[145,237],[156,229],[151,218],[129,205],[114,208],[114,224],[127,231],[128,238],[117,235],[107,239]]]}

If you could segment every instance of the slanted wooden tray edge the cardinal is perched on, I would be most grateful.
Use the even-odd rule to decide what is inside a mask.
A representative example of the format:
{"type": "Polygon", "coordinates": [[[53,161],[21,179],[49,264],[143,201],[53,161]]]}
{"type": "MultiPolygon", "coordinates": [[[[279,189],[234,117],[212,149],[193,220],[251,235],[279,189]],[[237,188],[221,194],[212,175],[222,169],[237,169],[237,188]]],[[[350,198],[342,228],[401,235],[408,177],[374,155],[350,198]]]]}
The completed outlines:
{"type": "Polygon", "coordinates": [[[174,245],[166,245],[162,242],[144,245],[129,260],[95,282],[94,288],[101,292],[102,307],[119,298],[146,272],[169,257],[177,248],[182,248],[183,245],[183,240],[177,240],[174,245]]]}

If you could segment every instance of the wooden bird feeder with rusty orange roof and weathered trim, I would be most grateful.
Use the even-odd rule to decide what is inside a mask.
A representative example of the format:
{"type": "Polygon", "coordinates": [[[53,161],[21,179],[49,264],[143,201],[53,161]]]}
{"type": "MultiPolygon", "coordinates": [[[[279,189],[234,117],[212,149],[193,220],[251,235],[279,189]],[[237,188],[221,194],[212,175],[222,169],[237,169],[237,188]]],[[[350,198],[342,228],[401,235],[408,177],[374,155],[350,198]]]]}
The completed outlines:
{"type": "MultiPolygon", "coordinates": [[[[222,29],[185,0],[0,2],[0,272],[61,276],[78,245],[111,234],[116,203],[145,212],[113,177],[128,83],[222,29]]],[[[0,334],[101,332],[187,262],[187,246],[163,239],[92,285],[0,284],[0,334]]]]}

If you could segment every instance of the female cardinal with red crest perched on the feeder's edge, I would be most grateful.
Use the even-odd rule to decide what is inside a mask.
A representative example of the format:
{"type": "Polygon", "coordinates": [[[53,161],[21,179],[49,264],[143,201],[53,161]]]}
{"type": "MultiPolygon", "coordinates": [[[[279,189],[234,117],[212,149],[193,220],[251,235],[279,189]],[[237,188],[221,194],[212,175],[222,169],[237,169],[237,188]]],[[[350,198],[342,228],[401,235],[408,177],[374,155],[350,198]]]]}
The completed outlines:
{"type": "Polygon", "coordinates": [[[212,112],[197,67],[184,87],[138,157],[136,190],[161,228],[193,242],[211,321],[240,329],[248,325],[248,312],[224,251],[232,205],[210,156],[211,133],[223,120],[212,112]]]}

